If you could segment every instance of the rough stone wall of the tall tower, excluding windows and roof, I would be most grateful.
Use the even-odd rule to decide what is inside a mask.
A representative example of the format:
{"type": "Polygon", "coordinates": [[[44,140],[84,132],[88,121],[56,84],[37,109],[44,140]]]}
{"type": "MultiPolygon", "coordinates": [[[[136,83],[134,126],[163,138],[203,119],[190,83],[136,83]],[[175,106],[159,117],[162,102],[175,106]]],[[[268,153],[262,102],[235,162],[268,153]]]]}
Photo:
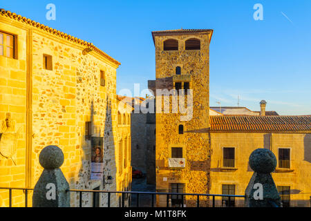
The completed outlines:
{"type": "MultiPolygon", "coordinates": [[[[193,117],[189,121],[180,121],[180,113],[156,113],[156,189],[159,192],[168,192],[171,183],[181,183],[185,185],[185,193],[209,193],[209,137],[207,133],[200,133],[200,129],[209,127],[209,38],[207,33],[191,31],[154,36],[156,81],[173,77],[176,66],[180,66],[181,76],[191,78],[194,100],[193,117]],[[185,50],[185,40],[191,38],[200,39],[200,50],[185,50]],[[166,39],[177,39],[178,50],[163,50],[166,39]],[[178,134],[180,124],[184,126],[184,134],[178,134]],[[183,148],[185,168],[168,167],[172,147],[183,148]]],[[[160,99],[162,97],[156,97],[157,101],[160,99]]],[[[195,198],[187,197],[186,200],[187,206],[196,203],[195,198]]],[[[208,204],[206,200],[201,202],[208,204]]],[[[165,206],[166,198],[158,197],[157,205],[165,206]]]]}

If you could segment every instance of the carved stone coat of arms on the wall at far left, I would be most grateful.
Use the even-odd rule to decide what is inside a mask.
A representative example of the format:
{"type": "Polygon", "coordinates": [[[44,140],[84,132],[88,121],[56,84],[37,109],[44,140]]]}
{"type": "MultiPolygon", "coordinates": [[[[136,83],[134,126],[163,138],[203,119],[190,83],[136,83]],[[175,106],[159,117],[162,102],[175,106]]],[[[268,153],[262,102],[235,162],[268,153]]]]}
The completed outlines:
{"type": "Polygon", "coordinates": [[[6,113],[6,119],[1,121],[0,128],[0,159],[4,157],[12,160],[16,165],[16,145],[19,131],[15,129],[15,121],[10,113],[6,113]]]}

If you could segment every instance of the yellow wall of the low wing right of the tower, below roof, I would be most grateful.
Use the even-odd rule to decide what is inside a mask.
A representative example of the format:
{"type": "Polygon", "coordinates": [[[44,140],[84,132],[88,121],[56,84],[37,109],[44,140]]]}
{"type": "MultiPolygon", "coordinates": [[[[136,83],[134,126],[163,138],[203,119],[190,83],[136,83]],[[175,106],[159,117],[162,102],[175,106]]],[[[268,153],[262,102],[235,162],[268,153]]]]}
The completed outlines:
{"type": "MultiPolygon", "coordinates": [[[[276,186],[290,186],[290,206],[310,206],[311,136],[310,133],[211,133],[211,193],[222,194],[222,184],[235,184],[236,195],[244,195],[253,171],[249,155],[256,148],[270,149],[276,160],[278,148],[290,148],[290,169],[272,173],[276,186]],[[235,166],[223,168],[223,147],[235,148],[235,166]]],[[[221,198],[216,198],[221,206],[221,198]]],[[[236,206],[244,200],[236,199],[236,206]]]]}

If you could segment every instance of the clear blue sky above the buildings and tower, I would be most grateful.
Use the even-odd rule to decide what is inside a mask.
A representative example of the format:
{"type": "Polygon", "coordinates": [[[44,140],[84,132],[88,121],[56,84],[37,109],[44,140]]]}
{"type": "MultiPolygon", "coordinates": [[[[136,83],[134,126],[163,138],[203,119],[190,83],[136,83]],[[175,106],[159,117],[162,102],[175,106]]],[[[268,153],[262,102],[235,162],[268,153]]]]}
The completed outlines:
{"type": "Polygon", "coordinates": [[[210,105],[311,114],[311,1],[0,0],[0,8],[90,41],[121,62],[117,91],[155,78],[152,30],[211,28],[210,105]],[[46,5],[56,20],[46,20],[46,5]],[[255,3],[263,21],[255,21],[255,3]]]}

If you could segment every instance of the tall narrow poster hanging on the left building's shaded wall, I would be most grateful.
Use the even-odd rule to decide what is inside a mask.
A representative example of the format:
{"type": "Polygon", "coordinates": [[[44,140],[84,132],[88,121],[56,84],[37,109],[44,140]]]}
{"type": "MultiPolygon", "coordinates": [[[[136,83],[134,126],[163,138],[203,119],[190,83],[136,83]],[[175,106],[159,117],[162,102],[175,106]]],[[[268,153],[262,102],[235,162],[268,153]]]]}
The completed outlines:
{"type": "Polygon", "coordinates": [[[103,137],[91,137],[91,180],[102,180],[103,178],[103,141],[103,137]]]}

